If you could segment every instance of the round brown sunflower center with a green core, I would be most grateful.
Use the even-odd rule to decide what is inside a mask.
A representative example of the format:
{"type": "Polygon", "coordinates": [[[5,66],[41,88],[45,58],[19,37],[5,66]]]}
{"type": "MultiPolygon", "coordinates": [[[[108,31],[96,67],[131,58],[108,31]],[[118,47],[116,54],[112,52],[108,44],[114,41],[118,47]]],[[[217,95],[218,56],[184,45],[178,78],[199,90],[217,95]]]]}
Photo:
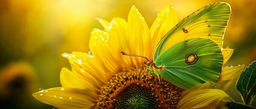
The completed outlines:
{"type": "Polygon", "coordinates": [[[117,73],[102,87],[96,109],[175,109],[183,89],[156,75],[146,73],[145,68],[131,67],[117,73]]]}

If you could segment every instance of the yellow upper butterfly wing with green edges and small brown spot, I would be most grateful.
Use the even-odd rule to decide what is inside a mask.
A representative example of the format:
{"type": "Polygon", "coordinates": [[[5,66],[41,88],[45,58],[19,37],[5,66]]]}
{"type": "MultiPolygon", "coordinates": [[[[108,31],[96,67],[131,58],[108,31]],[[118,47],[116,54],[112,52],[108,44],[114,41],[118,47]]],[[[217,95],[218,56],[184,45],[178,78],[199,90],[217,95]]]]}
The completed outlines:
{"type": "Polygon", "coordinates": [[[230,12],[230,5],[220,2],[205,6],[184,18],[163,36],[154,51],[153,61],[177,42],[195,37],[211,39],[221,48],[230,12]]]}

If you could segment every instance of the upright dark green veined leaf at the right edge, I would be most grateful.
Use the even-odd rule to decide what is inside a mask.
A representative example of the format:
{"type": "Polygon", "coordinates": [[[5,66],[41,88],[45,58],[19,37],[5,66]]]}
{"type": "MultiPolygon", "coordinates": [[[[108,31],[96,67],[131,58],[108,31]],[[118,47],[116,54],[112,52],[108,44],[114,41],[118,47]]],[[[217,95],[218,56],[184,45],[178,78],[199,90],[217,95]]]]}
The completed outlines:
{"type": "Polygon", "coordinates": [[[250,105],[256,94],[256,61],[253,61],[241,73],[236,89],[240,92],[244,104],[250,105]]]}

